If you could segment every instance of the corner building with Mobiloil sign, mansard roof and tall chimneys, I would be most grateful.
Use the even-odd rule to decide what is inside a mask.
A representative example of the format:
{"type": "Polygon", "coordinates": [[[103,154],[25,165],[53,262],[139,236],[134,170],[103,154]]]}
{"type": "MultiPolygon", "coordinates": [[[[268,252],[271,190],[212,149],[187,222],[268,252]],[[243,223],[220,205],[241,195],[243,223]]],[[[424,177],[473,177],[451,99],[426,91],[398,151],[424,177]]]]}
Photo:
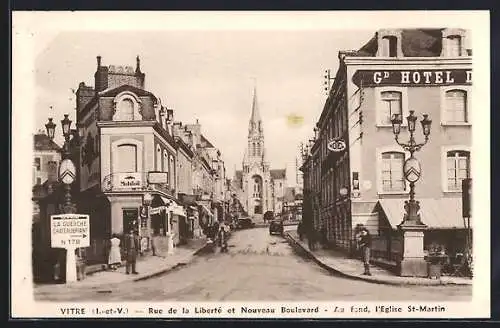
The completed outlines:
{"type": "Polygon", "coordinates": [[[137,57],[132,67],[103,66],[97,57],[95,87],[80,83],[77,123],[84,128],[80,149],[79,211],[90,214],[89,262],[105,261],[112,233],[137,229],[141,247],[153,236],[180,240],[185,211],[176,198],[177,149],[165,108],[144,89],[137,57]],[[148,172],[166,181],[149,183],[148,172]],[[144,196],[153,196],[151,212],[144,196]]]}

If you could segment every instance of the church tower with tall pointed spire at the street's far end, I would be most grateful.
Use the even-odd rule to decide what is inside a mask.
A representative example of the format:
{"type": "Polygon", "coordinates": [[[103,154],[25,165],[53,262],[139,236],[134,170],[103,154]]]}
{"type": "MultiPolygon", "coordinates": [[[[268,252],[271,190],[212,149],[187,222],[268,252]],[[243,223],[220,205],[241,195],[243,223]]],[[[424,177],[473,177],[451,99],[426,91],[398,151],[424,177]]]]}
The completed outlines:
{"type": "Polygon", "coordinates": [[[257,91],[254,88],[247,147],[243,158],[242,189],[243,206],[248,215],[256,221],[261,221],[264,213],[273,210],[272,184],[265,154],[264,126],[260,117],[257,91]]]}

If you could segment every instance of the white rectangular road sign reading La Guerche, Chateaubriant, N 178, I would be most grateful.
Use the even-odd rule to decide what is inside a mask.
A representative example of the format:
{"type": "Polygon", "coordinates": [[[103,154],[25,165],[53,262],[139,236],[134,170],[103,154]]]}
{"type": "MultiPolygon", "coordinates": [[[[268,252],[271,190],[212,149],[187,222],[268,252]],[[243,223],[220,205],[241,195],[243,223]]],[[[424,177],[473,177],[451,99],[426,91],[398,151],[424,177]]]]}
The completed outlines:
{"type": "Polygon", "coordinates": [[[52,248],[90,246],[90,220],[87,214],[57,214],[50,216],[52,248]]]}

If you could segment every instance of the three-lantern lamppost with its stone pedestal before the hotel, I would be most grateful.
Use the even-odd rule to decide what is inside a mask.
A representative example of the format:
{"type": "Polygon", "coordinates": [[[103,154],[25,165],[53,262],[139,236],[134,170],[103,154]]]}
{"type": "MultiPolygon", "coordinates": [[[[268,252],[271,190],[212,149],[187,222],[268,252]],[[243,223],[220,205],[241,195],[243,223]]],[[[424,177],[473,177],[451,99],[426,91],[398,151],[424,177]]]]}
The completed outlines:
{"type": "Polygon", "coordinates": [[[401,260],[400,275],[425,277],[427,276],[427,264],[424,260],[424,231],[427,226],[420,220],[420,214],[418,213],[420,202],[415,200],[415,182],[420,178],[422,170],[420,162],[414,157],[414,153],[422,149],[429,141],[432,121],[427,114],[423,114],[420,123],[422,124],[424,142],[417,143],[414,136],[417,116],[414,115],[414,111],[410,111],[406,120],[410,139],[404,143],[399,141],[401,124],[403,123],[401,114],[394,114],[391,119],[396,143],[410,153],[410,157],[403,166],[404,178],[410,183],[410,199],[405,201],[403,221],[398,225],[398,228],[403,233],[403,258],[401,260]]]}

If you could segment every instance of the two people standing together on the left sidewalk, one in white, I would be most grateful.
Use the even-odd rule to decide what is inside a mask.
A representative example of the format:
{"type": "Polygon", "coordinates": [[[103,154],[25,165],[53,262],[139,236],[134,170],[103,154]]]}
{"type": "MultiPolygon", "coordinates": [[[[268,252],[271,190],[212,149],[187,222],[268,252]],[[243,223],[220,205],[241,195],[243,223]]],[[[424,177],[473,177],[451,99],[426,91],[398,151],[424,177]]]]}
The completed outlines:
{"type": "MultiPolygon", "coordinates": [[[[109,268],[116,271],[122,264],[122,255],[120,251],[120,245],[122,240],[117,234],[113,234],[110,239],[110,249],[108,257],[109,268]]],[[[130,229],[128,234],[123,238],[123,252],[125,255],[125,273],[126,274],[139,274],[137,272],[137,256],[141,251],[141,243],[139,235],[135,229],[130,229]]]]}

